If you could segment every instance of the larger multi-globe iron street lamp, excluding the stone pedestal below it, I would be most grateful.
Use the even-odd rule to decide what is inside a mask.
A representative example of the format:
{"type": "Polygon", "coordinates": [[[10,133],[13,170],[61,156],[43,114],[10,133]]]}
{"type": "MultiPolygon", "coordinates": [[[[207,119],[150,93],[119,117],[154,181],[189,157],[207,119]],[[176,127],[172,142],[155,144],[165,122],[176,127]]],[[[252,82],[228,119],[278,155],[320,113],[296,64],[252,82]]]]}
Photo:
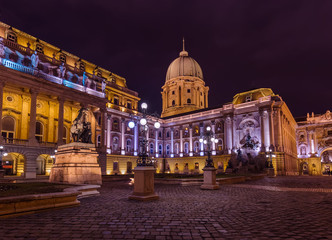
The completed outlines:
{"type": "MultiPolygon", "coordinates": [[[[134,119],[132,119],[128,123],[128,127],[132,129],[139,122],[139,131],[141,133],[142,139],[139,141],[140,147],[137,159],[137,166],[153,166],[153,161],[149,158],[149,155],[147,154],[147,143],[148,143],[146,139],[146,131],[148,130],[147,118],[150,117],[149,115],[146,114],[148,105],[146,103],[142,103],[141,108],[142,108],[142,117],[141,118],[137,117],[136,119],[137,121],[134,121],[134,119]]],[[[160,123],[155,122],[154,127],[156,129],[160,128],[160,123]]]]}

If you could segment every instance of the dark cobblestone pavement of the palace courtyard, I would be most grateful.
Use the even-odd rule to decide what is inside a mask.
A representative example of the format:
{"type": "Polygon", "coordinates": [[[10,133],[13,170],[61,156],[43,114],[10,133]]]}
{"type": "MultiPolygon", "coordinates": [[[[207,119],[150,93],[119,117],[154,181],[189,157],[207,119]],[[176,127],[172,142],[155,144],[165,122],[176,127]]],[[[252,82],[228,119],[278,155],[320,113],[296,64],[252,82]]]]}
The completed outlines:
{"type": "Polygon", "coordinates": [[[129,201],[106,182],[81,206],[0,219],[1,239],[332,239],[332,177],[277,177],[222,185],[156,185],[160,200],[129,201]],[[259,189],[280,187],[282,191],[259,189]]]}

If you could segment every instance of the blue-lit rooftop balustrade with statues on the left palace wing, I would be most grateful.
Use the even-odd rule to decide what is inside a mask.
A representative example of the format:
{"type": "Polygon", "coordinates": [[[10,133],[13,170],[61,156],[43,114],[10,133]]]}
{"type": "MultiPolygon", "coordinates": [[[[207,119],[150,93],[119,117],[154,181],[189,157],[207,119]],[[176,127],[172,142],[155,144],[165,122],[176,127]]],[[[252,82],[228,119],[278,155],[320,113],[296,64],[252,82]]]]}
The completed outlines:
{"type": "Polygon", "coordinates": [[[100,98],[105,98],[106,81],[104,78],[63,64],[55,58],[42,53],[38,55],[38,66],[32,66],[31,56],[34,54],[29,47],[23,47],[7,39],[0,38],[0,65],[43,78],[53,83],[64,85],[81,92],[86,92],[100,98]],[[61,66],[63,64],[63,66],[61,66]],[[61,69],[62,72],[61,73],[61,69]],[[62,76],[62,77],[61,77],[62,76]],[[105,84],[105,85],[104,85],[105,84]]]}

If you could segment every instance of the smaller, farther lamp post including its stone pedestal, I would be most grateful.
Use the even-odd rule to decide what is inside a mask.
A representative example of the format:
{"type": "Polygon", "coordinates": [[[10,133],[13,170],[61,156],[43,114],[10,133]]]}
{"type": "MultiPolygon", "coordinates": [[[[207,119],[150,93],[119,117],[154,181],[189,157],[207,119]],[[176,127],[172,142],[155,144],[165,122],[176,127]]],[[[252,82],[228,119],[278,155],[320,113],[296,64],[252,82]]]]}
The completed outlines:
{"type": "Polygon", "coordinates": [[[215,138],[214,133],[211,131],[211,127],[207,126],[206,131],[199,141],[207,146],[207,159],[205,162],[204,171],[204,183],[201,189],[216,190],[219,189],[219,185],[216,183],[216,171],[214,167],[213,159],[211,158],[211,144],[212,142],[218,143],[218,139],[215,138]]]}

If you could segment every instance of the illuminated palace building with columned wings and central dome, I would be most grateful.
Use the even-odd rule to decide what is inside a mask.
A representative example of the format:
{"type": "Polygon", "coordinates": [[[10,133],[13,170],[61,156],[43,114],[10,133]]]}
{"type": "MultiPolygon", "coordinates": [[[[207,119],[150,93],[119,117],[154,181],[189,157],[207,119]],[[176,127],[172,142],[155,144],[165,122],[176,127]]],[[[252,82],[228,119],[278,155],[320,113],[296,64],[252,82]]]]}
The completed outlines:
{"type": "Polygon", "coordinates": [[[199,139],[207,126],[218,139],[212,155],[221,172],[239,155],[249,163],[269,158],[277,175],[322,174],[330,166],[329,112],[297,123],[269,88],[238,93],[215,108],[209,108],[208,94],[201,67],[183,46],[162,86],[161,117],[150,116],[146,133],[140,132],[140,98],[125,78],[0,22],[0,158],[6,175],[48,175],[57,147],[72,141],[82,107],[89,109],[103,174],[132,173],[143,134],[157,172],[202,173],[206,151],[199,139]]]}

